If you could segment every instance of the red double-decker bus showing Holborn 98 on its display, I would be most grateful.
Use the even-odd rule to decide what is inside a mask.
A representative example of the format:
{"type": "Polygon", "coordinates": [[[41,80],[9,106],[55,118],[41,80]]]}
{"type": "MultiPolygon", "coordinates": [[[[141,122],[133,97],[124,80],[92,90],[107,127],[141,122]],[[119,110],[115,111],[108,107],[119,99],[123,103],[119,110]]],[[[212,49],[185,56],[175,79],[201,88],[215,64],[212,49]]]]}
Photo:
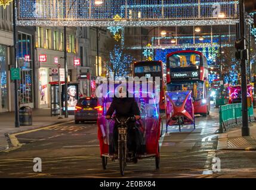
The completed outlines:
{"type": "Polygon", "coordinates": [[[208,64],[201,52],[181,50],[167,55],[167,91],[192,90],[195,114],[210,110],[208,64]]]}

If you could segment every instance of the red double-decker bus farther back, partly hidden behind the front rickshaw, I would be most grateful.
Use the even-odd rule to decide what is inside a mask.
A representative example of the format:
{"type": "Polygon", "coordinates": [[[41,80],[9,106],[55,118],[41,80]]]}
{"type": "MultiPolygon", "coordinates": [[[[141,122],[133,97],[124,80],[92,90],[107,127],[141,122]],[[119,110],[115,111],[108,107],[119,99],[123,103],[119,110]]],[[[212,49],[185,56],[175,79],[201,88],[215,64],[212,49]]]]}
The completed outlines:
{"type": "Polygon", "coordinates": [[[141,61],[134,62],[133,66],[134,77],[160,77],[160,99],[159,109],[165,110],[165,95],[164,95],[164,69],[162,61],[141,61]]]}

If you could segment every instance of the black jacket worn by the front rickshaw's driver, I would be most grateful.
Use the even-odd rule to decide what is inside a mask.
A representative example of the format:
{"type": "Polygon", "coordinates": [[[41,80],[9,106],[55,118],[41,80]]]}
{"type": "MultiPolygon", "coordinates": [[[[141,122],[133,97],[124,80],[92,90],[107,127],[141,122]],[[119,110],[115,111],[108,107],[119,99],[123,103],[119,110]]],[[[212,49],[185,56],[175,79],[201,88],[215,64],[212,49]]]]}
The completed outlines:
{"type": "Polygon", "coordinates": [[[114,97],[106,115],[112,116],[115,111],[117,118],[129,118],[134,115],[140,115],[140,109],[133,97],[124,97],[122,99],[114,97]]]}

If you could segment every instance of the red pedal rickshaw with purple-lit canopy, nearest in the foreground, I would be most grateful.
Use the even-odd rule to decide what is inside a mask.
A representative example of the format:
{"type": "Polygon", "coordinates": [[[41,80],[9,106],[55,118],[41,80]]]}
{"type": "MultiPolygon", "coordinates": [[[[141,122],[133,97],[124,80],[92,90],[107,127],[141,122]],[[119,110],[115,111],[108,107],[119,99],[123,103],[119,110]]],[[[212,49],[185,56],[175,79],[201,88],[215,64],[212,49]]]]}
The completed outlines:
{"type": "MultiPolygon", "coordinates": [[[[107,85],[107,84],[101,84],[107,85]]],[[[134,83],[135,85],[135,83],[134,83]]],[[[149,93],[141,90],[141,84],[139,91],[130,91],[128,93],[137,94],[135,100],[140,107],[141,119],[135,121],[137,126],[137,131],[139,131],[142,138],[140,138],[140,145],[138,147],[137,154],[135,154],[136,159],[144,159],[149,157],[155,157],[156,169],[159,169],[160,153],[159,153],[159,137],[160,137],[160,126],[161,117],[159,115],[159,105],[155,100],[155,94],[149,93]]],[[[115,90],[118,89],[119,85],[115,84],[115,90]]],[[[104,88],[104,87],[103,87],[104,88]]],[[[107,88],[107,87],[106,87],[107,88]]],[[[109,89],[109,88],[107,88],[109,89]]],[[[98,105],[102,106],[101,112],[98,114],[98,140],[100,141],[100,156],[102,160],[103,169],[106,170],[107,159],[113,161],[119,160],[119,169],[122,176],[124,176],[125,166],[127,163],[132,162],[134,157],[128,150],[127,146],[127,133],[128,126],[126,121],[119,121],[115,116],[107,120],[105,118],[107,109],[109,108],[112,97],[109,96],[111,92],[108,90],[107,94],[103,93],[103,97],[98,97],[98,105]],[[118,126],[118,154],[114,151],[113,142],[113,129],[115,122],[119,123],[118,126]]],[[[114,113],[115,115],[115,113],[114,113]]]]}

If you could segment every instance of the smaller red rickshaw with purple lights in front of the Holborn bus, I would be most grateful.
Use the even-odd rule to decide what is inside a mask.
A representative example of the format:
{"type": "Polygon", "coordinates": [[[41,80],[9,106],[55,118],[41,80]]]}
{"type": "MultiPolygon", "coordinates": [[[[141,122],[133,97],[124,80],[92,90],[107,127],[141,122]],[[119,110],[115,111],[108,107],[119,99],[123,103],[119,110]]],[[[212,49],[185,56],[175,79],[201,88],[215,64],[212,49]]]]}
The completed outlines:
{"type": "Polygon", "coordinates": [[[195,124],[195,115],[193,100],[191,96],[192,91],[166,91],[166,132],[168,126],[178,125],[181,131],[183,125],[195,124]]]}

